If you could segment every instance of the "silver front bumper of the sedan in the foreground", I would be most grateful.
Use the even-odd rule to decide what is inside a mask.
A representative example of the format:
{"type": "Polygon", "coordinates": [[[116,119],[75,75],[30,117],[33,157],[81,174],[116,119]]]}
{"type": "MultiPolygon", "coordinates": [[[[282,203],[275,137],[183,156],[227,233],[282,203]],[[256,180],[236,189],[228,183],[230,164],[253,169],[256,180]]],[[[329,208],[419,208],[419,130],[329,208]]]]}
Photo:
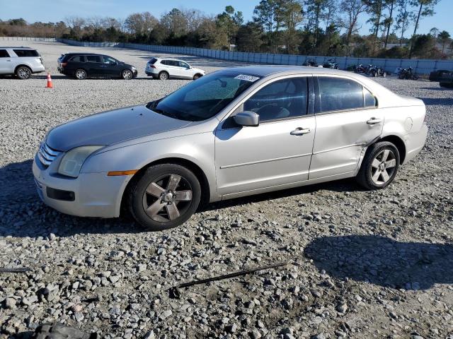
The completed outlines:
{"type": "Polygon", "coordinates": [[[47,206],[79,217],[116,218],[120,215],[122,194],[130,176],[108,177],[103,172],[81,173],[77,178],[63,177],[56,171],[59,160],[54,160],[50,167],[42,165],[37,156],[33,161],[38,195],[47,206]],[[60,196],[55,191],[59,194],[62,194],[59,191],[71,192],[72,195],[63,193],[60,196]]]}

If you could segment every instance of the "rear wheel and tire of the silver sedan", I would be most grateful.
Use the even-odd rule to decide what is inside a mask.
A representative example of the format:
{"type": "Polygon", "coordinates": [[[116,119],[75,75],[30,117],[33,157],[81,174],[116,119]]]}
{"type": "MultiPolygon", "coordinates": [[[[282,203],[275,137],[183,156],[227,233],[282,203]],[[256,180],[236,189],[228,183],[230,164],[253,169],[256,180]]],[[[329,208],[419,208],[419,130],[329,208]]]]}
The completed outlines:
{"type": "Polygon", "coordinates": [[[399,161],[398,148],[393,143],[388,141],[374,143],[365,154],[362,167],[357,174],[357,182],[365,189],[384,189],[394,181],[399,161]]]}

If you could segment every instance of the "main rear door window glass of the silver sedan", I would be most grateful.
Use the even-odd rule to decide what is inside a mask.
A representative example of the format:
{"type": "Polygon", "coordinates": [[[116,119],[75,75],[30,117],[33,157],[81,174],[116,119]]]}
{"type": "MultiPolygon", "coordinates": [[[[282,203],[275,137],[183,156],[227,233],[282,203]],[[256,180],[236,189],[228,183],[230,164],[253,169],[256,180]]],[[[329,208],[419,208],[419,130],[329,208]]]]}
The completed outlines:
{"type": "Polygon", "coordinates": [[[320,112],[363,108],[363,87],[345,78],[319,77],[320,112]]]}

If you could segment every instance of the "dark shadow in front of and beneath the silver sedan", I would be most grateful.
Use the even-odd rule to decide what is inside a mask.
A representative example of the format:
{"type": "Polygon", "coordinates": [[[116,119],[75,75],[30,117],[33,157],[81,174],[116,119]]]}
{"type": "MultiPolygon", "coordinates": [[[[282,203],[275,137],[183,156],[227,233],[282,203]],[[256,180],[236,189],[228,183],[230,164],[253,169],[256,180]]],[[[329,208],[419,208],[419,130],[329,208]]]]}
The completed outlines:
{"type": "MultiPolygon", "coordinates": [[[[36,192],[32,160],[13,162],[0,167],[0,237],[46,237],[50,232],[58,237],[74,234],[144,232],[134,220],[123,213],[120,218],[80,218],[65,215],[47,207],[36,192]],[[8,216],[8,218],[6,218],[8,216]]],[[[287,196],[311,194],[315,191],[361,191],[353,179],[301,186],[254,196],[234,198],[200,206],[197,213],[221,210],[248,203],[268,201],[287,196]]],[[[303,199],[303,197],[300,197],[303,199]]]]}

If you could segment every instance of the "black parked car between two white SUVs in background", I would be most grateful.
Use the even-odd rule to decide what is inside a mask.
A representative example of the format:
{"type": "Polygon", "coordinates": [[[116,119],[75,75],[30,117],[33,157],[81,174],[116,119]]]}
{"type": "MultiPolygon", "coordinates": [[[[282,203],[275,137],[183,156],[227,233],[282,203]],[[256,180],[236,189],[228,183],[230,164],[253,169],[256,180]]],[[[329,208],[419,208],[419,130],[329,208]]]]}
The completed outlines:
{"type": "Polygon", "coordinates": [[[137,76],[134,66],[103,54],[68,53],[59,57],[57,62],[59,73],[79,80],[91,76],[129,80],[137,76]]]}

